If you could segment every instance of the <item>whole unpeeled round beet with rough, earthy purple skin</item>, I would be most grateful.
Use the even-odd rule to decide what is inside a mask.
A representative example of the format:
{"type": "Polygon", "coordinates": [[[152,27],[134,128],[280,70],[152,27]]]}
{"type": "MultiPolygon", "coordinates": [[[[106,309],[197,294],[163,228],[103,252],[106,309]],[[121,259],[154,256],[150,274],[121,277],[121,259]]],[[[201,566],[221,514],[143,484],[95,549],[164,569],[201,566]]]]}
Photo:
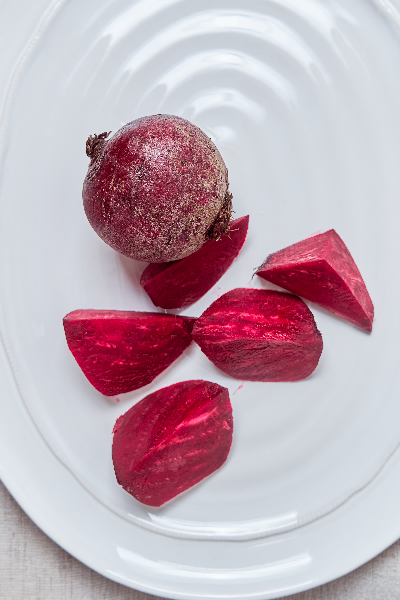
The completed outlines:
{"type": "Polygon", "coordinates": [[[190,121],[145,116],[90,136],[83,182],[89,223],[118,252],[179,260],[229,229],[232,195],[218,149],[190,121]]]}

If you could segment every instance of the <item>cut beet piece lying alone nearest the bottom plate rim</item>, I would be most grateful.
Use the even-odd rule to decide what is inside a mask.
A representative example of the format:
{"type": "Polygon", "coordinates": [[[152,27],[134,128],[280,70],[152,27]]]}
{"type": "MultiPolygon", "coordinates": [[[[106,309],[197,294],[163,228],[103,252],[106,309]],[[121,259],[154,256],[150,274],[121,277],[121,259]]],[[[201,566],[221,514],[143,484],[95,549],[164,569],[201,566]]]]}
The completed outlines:
{"type": "Polygon", "coordinates": [[[194,380],[159,389],[116,421],[117,481],[139,502],[161,506],[219,469],[232,431],[226,388],[194,380]]]}

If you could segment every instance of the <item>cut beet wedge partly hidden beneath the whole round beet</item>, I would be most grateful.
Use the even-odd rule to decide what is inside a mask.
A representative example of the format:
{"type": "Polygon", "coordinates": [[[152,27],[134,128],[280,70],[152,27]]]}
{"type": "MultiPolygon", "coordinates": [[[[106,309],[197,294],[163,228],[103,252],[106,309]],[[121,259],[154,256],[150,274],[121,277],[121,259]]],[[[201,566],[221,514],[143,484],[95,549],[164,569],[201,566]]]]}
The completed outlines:
{"type": "Polygon", "coordinates": [[[140,285],[151,301],[162,308],[183,308],[197,302],[222,277],[245,243],[249,217],[231,221],[229,236],[206,242],[182,260],[150,263],[140,285]]]}

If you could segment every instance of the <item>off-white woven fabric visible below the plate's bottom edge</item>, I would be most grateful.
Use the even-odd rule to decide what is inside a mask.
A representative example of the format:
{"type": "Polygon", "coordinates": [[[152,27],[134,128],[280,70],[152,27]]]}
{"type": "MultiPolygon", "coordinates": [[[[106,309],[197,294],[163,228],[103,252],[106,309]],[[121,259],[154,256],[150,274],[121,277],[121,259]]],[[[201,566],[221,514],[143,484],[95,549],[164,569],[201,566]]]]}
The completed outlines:
{"type": "MultiPolygon", "coordinates": [[[[48,538],[0,482],[0,600],[151,600],[82,565],[48,538]]],[[[290,600],[398,600],[400,540],[356,571],[290,600]]]]}

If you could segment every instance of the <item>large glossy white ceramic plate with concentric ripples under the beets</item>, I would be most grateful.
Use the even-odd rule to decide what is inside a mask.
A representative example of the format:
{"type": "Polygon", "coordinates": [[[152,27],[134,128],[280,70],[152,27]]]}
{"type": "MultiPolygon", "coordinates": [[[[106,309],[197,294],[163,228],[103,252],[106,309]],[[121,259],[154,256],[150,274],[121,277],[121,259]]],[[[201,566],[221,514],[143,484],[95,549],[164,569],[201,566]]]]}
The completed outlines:
{"type": "Polygon", "coordinates": [[[14,382],[0,405],[1,475],[107,577],[171,598],[277,598],[400,535],[399,23],[386,0],[70,0],[44,17],[1,131],[2,368],[14,382]],[[192,344],[136,392],[92,388],[62,317],[155,308],[139,286],[145,263],[86,221],[85,140],[153,113],[212,137],[236,215],[250,215],[240,256],[182,313],[266,287],[251,276],[267,254],[334,228],[374,302],[371,335],[311,305],[324,350],[302,382],[234,380],[192,344]],[[116,484],[112,427],[184,379],[228,387],[233,446],[213,476],[149,509],[116,484]]]}

